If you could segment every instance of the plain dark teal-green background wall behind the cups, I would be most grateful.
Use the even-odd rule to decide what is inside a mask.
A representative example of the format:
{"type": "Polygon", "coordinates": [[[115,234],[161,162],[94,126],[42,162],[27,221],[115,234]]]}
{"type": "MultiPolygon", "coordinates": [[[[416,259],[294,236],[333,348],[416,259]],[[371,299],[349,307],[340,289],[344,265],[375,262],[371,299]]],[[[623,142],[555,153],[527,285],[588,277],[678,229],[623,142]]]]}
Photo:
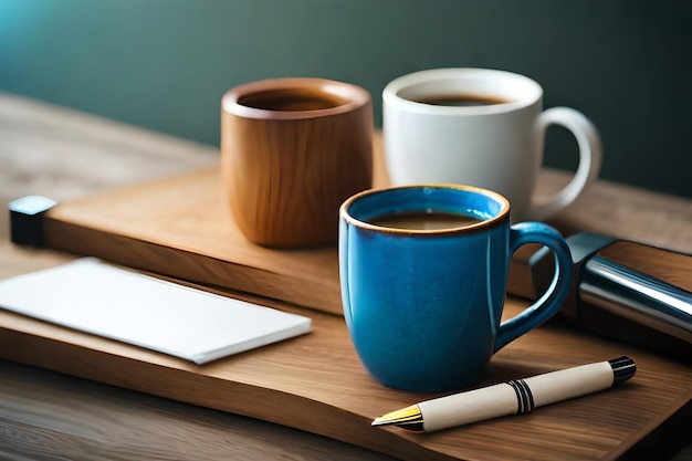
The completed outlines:
{"type": "MultiPolygon", "coordinates": [[[[692,2],[643,0],[1,0],[0,90],[219,144],[229,88],[503,69],[598,126],[601,177],[692,197],[692,2]]],[[[576,147],[548,136],[546,164],[576,147]]]]}

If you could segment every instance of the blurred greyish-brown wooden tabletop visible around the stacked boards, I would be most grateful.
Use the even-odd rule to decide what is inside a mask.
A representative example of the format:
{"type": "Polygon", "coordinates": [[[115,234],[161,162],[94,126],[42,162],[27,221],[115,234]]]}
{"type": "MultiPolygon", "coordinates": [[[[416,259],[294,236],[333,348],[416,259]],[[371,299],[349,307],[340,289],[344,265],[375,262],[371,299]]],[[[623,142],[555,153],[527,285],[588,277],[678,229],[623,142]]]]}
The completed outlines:
{"type": "MultiPolygon", "coordinates": [[[[217,150],[0,93],[4,210],[27,195],[66,201],[216,166],[217,150]]],[[[539,192],[564,180],[547,171],[539,192]]],[[[558,220],[564,227],[692,251],[692,201],[686,199],[600,181],[558,220]]],[[[15,247],[8,233],[8,213],[0,212],[0,279],[74,258],[15,247]]],[[[0,458],[7,459],[388,459],[277,425],[8,362],[0,362],[0,458]]],[[[682,421],[688,428],[689,422],[682,421]]],[[[680,439],[690,441],[689,429],[674,442],[680,439]]],[[[692,460],[692,446],[678,454],[667,447],[653,452],[659,459],[692,460]]]]}

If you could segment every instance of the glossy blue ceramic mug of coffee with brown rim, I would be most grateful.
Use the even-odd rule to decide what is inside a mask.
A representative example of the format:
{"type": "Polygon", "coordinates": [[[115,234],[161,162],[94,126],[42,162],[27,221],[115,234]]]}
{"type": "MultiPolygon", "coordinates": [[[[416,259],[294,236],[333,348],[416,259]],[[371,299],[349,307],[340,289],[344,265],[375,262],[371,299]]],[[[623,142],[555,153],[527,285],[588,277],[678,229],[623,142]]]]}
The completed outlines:
{"type": "Polygon", "coordinates": [[[479,380],[492,355],[551,318],[567,295],[572,254],[547,224],[510,224],[510,202],[470,186],[371,189],[339,219],[344,316],[381,384],[417,391],[479,380]],[[510,259],[526,243],[555,254],[547,292],[501,324],[510,259]]]}

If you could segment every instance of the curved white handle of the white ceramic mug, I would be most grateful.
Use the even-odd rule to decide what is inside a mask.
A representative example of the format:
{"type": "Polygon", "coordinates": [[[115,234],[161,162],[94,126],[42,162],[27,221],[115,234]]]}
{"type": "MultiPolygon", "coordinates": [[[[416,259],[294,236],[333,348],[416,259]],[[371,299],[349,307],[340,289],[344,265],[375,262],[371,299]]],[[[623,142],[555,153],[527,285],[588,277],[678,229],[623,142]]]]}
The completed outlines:
{"type": "Polygon", "coordinates": [[[551,125],[560,125],[572,132],[579,146],[579,166],[574,177],[559,192],[545,201],[532,202],[532,220],[542,221],[564,209],[591,184],[600,172],[602,147],[596,126],[578,111],[569,107],[553,107],[543,112],[537,119],[538,148],[543,149],[546,130],[551,125]]]}

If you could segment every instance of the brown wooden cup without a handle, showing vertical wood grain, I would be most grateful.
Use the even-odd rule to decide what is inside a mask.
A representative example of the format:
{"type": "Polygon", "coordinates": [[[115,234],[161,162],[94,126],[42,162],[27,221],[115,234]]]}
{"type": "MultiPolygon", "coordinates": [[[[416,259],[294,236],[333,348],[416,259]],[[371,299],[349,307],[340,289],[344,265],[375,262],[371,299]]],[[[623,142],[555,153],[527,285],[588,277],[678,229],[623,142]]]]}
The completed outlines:
{"type": "Polygon", "coordinates": [[[338,208],[373,185],[373,102],[323,78],[240,85],[221,99],[221,170],[238,227],[265,247],[333,244],[338,208]]]}

